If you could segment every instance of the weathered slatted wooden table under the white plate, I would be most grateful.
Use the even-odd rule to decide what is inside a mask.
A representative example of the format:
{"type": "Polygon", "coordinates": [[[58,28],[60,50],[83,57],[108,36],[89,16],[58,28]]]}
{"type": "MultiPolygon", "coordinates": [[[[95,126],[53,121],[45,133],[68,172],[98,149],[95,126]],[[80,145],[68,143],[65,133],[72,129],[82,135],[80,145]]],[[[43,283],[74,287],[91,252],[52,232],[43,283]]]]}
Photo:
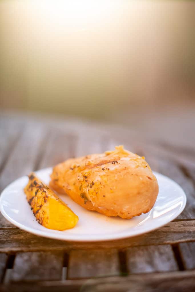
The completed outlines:
{"type": "MultiPolygon", "coordinates": [[[[2,291],[193,291],[195,151],[119,126],[2,115],[0,189],[32,170],[124,144],[181,185],[187,205],[175,220],[141,236],[93,243],[20,230],[0,215],[2,291]]],[[[0,289],[0,290],[1,290],[0,289]]]]}

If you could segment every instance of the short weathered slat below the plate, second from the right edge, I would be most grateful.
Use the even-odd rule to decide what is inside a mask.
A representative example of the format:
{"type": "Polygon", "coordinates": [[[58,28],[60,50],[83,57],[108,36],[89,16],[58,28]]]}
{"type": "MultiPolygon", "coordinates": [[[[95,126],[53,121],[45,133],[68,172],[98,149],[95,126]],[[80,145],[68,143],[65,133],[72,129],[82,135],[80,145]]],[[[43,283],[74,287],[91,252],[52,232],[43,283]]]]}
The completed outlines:
{"type": "Polygon", "coordinates": [[[170,245],[139,246],[126,251],[129,273],[167,272],[178,270],[170,245]]]}

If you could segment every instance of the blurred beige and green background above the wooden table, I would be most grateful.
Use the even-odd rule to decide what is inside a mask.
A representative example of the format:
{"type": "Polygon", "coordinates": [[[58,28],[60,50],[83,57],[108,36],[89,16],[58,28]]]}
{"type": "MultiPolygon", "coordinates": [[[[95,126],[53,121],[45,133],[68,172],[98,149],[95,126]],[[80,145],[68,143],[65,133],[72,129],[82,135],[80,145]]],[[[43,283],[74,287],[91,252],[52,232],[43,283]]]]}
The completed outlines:
{"type": "Polygon", "coordinates": [[[192,145],[194,31],[194,1],[1,0],[1,114],[120,124],[192,145]]]}

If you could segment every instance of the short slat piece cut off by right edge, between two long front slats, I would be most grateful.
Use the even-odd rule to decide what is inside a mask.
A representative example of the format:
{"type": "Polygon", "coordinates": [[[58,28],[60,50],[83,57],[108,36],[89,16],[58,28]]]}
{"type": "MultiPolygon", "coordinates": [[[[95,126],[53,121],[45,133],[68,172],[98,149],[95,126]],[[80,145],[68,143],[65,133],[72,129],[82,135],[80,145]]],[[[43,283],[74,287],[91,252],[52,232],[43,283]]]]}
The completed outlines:
{"type": "Polygon", "coordinates": [[[195,269],[195,242],[180,243],[179,250],[184,268],[195,269]]]}

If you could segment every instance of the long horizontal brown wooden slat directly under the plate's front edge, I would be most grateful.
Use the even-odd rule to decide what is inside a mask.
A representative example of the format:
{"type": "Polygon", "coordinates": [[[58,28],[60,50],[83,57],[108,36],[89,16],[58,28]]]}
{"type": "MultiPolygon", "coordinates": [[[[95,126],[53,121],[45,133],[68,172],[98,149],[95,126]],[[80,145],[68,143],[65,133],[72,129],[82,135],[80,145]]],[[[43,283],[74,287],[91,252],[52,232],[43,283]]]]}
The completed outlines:
{"type": "Polygon", "coordinates": [[[175,221],[140,236],[103,242],[73,242],[46,239],[19,229],[0,230],[0,252],[52,251],[88,248],[126,248],[195,241],[194,220],[175,221]]]}

